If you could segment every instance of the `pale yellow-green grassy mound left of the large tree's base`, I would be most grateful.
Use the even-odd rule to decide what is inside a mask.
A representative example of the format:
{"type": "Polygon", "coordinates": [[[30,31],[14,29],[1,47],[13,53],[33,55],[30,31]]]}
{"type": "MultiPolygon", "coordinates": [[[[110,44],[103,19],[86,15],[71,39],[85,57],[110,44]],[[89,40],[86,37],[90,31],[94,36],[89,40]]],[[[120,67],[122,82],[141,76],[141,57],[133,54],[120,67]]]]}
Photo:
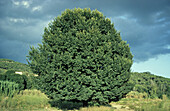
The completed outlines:
{"type": "Polygon", "coordinates": [[[15,95],[13,98],[9,98],[1,102],[1,107],[6,109],[23,109],[34,110],[39,108],[50,107],[48,103],[49,99],[39,90],[24,90],[20,94],[15,95]]]}

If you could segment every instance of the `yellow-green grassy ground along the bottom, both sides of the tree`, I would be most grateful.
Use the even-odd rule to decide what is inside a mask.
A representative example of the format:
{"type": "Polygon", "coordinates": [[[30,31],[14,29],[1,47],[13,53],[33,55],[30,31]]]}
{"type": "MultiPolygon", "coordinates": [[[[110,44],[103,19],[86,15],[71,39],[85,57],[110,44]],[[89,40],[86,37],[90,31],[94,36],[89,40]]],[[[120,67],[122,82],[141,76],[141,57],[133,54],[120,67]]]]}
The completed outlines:
{"type": "MultiPolygon", "coordinates": [[[[62,111],[51,107],[50,99],[38,90],[25,90],[13,98],[0,95],[0,111],[62,111]]],[[[123,98],[111,102],[110,106],[81,107],[72,111],[170,111],[170,100],[163,99],[123,98]]]]}

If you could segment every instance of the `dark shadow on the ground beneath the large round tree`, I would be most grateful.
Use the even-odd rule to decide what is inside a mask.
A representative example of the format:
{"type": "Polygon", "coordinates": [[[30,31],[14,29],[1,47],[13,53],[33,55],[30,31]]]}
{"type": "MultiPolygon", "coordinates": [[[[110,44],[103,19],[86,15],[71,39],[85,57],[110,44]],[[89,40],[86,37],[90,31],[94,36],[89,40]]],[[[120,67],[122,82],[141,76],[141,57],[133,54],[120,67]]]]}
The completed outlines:
{"type": "Polygon", "coordinates": [[[56,107],[61,110],[74,110],[83,107],[82,102],[52,100],[49,103],[51,104],[52,107],[56,107]]]}

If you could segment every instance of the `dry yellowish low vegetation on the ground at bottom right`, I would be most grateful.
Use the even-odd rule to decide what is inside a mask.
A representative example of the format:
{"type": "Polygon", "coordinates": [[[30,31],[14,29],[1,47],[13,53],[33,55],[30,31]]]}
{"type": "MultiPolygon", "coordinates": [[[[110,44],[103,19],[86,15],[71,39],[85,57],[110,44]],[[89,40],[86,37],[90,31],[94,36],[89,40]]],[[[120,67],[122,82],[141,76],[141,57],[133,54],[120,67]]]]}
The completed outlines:
{"type": "MultiPolygon", "coordinates": [[[[145,94],[144,94],[145,95],[145,94]]],[[[170,111],[170,100],[163,95],[164,99],[140,98],[141,94],[136,98],[123,98],[118,102],[112,102],[111,105],[122,105],[120,109],[128,107],[135,111],[170,111]]]]}

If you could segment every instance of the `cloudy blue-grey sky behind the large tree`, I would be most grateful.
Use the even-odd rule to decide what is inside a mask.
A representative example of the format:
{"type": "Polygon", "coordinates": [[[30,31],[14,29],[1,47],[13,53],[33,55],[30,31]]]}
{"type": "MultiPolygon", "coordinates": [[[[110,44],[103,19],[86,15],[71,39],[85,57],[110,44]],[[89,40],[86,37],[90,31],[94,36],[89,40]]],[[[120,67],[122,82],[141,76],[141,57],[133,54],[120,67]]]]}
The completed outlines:
{"type": "Polygon", "coordinates": [[[134,55],[133,72],[170,78],[170,0],[0,0],[0,58],[27,63],[30,46],[68,8],[97,9],[111,19],[134,55]]]}

